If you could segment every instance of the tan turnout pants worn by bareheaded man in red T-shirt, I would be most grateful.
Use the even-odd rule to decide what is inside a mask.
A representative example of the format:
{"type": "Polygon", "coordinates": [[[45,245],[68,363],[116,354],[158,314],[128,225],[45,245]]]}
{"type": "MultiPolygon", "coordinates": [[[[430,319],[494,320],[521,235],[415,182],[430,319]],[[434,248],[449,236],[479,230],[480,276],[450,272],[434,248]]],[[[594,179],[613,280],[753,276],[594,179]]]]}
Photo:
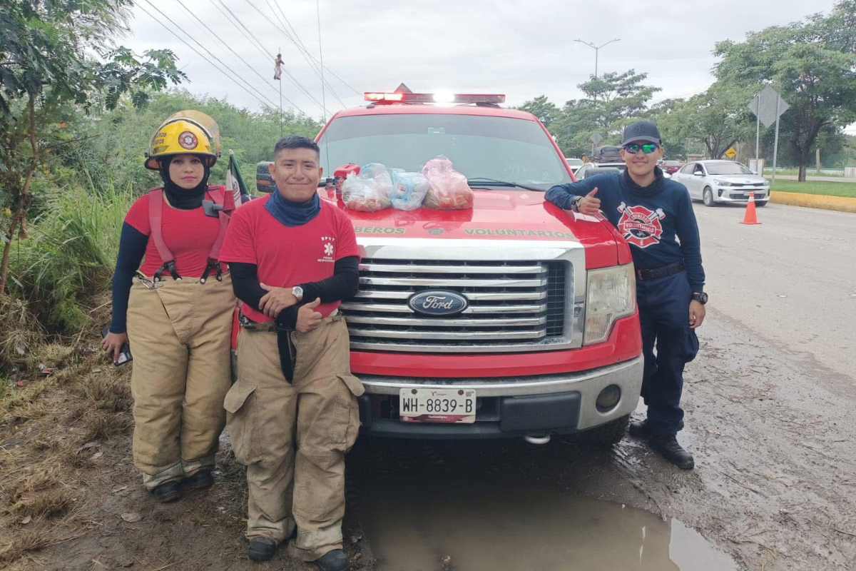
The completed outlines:
{"type": "Polygon", "coordinates": [[[341,315],[290,335],[292,384],[282,375],[273,326],[241,330],[238,380],[225,407],[235,457],[247,465],[247,538],[282,542],[296,524],[291,555],[315,561],[342,549],[345,453],[360,431],[356,397],[364,389],[350,372],[341,315]]]}

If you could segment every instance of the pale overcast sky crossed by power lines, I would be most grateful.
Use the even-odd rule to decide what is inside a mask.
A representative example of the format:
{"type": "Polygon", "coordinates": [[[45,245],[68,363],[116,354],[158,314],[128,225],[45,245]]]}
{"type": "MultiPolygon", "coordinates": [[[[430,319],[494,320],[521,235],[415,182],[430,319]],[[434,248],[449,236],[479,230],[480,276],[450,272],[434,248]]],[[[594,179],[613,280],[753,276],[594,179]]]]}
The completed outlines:
{"type": "MultiPolygon", "coordinates": [[[[163,21],[218,68],[223,68],[207,52],[211,51],[275,105],[279,102],[279,85],[273,81],[273,62],[265,57],[265,52],[275,56],[281,48],[285,69],[312,98],[323,102],[321,80],[280,31],[282,26],[273,9],[276,5],[282,9],[306,49],[319,58],[316,3],[222,1],[259,40],[259,47],[247,39],[231,15],[227,19],[217,9],[219,6],[229,14],[217,0],[137,0],[134,20],[130,22],[131,34],[122,43],[138,52],[153,48],[175,51],[179,66],[190,79],[184,84],[188,90],[227,98],[251,110],[259,109],[259,98],[217,71],[158,21],[163,21]],[[180,2],[214,34],[188,15],[180,2]],[[146,15],[144,9],[158,16],[158,21],[146,15]],[[163,20],[156,9],[175,21],[181,31],[163,20]],[[246,60],[256,73],[225,45],[246,60]]],[[[336,96],[348,107],[363,104],[362,92],[392,90],[401,81],[415,92],[447,89],[505,93],[508,105],[519,105],[545,94],[561,106],[568,99],[579,98],[576,86],[594,73],[595,51],[574,39],[601,45],[620,38],[621,41],[600,51],[598,73],[634,68],[648,74],[649,84],[663,88],[655,100],[686,97],[703,91],[712,82],[710,68],[716,59],[710,52],[716,41],[740,40],[752,30],[800,20],[812,11],[828,12],[834,3],[834,0],[720,3],[320,0],[324,67],[348,83],[325,75],[332,86],[332,92],[326,90],[326,107],[328,114],[342,109],[336,96]]],[[[300,92],[285,74],[282,95],[308,115],[322,116],[321,105],[300,92]]],[[[291,105],[283,99],[283,106],[291,105]]]]}

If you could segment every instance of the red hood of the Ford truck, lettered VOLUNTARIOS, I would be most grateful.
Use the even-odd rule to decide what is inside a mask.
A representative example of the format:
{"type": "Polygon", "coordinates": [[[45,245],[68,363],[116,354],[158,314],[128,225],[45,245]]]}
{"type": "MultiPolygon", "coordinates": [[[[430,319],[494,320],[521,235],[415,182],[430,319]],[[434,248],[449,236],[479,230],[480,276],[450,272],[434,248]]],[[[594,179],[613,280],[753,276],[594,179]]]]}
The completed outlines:
{"type": "Polygon", "coordinates": [[[335,196],[328,196],[324,190],[319,193],[351,218],[358,241],[367,236],[573,241],[586,247],[586,267],[626,263],[618,261],[617,235],[606,220],[574,220],[568,212],[545,202],[544,193],[540,192],[474,189],[472,209],[398,211],[388,208],[377,212],[352,211],[335,196]]]}

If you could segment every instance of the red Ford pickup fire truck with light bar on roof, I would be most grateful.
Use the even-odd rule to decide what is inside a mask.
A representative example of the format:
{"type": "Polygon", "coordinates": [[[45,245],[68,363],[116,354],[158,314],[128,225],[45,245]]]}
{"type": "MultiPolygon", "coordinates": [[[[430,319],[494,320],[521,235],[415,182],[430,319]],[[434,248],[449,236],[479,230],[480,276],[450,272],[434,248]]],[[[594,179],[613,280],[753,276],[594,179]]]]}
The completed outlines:
{"type": "Polygon", "coordinates": [[[573,180],[555,141],[500,95],[366,93],[317,142],[340,164],[418,171],[445,155],[473,208],[351,211],[360,291],[342,303],[366,433],[621,439],[639,401],[633,262],[605,219],[544,202],[573,180]]]}

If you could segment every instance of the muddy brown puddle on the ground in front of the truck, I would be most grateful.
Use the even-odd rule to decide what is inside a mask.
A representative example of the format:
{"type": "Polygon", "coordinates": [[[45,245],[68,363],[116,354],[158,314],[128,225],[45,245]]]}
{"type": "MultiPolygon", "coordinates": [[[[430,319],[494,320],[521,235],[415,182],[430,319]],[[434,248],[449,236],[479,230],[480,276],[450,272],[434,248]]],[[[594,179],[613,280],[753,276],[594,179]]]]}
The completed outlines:
{"type": "Polygon", "coordinates": [[[419,479],[363,492],[379,571],[737,569],[679,520],[558,491],[419,479]]]}

